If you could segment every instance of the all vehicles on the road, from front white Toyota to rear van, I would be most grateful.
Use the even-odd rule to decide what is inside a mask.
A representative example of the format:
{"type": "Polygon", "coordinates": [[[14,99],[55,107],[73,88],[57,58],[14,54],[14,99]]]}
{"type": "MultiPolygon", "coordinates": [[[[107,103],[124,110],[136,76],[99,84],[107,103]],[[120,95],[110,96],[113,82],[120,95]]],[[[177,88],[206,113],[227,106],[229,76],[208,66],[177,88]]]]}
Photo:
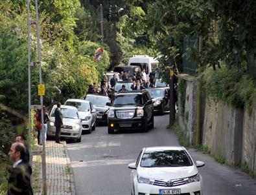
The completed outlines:
{"type": "MultiPolygon", "coordinates": [[[[132,77],[139,68],[146,69],[146,77],[157,61],[148,56],[134,56],[129,66],[115,67],[106,72],[108,77],[117,76],[111,88],[111,98],[99,94],[87,94],[83,99],[67,99],[60,107],[64,126],[61,138],[81,141],[82,132],[91,133],[98,123],[108,126],[108,134],[115,130],[142,130],[154,128],[154,114],[170,110],[170,88],[161,78],[155,78],[155,87],[132,90],[132,81],[122,81],[121,72],[129,71],[132,77]],[[124,86],[125,90],[122,90],[124,86]]],[[[109,84],[110,85],[110,84],[109,84]]],[[[47,136],[55,135],[54,110],[47,123],[47,136]]],[[[194,194],[202,195],[202,176],[197,167],[204,162],[194,162],[184,147],[143,148],[135,163],[130,163],[132,195],[194,194]]]]}

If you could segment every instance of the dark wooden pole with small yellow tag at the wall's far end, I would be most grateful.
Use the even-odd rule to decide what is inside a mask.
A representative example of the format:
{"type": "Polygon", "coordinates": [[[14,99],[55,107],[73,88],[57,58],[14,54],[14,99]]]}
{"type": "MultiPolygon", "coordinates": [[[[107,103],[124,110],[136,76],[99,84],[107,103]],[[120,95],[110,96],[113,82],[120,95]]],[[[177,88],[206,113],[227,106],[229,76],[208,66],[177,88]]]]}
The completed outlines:
{"type": "Polygon", "coordinates": [[[169,127],[172,127],[175,123],[175,100],[174,100],[174,65],[170,66],[170,118],[169,118],[169,127]]]}

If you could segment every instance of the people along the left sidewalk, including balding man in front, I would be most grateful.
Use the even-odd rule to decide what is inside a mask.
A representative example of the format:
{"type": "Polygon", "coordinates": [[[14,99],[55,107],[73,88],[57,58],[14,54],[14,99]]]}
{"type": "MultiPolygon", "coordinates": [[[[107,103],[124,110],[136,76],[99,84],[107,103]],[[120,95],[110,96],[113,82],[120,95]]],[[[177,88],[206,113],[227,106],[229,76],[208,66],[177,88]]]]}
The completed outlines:
{"type": "MultiPolygon", "coordinates": [[[[62,112],[60,111],[60,103],[57,103],[54,116],[54,126],[56,127],[56,143],[60,143],[60,129],[63,127],[62,112]]],[[[36,125],[41,122],[41,110],[36,110],[36,125]]],[[[49,121],[49,114],[46,107],[43,107],[43,124],[38,125],[38,144],[41,145],[46,141],[47,135],[47,121],[49,121]]],[[[8,195],[32,195],[31,174],[32,168],[30,166],[30,154],[27,144],[25,143],[25,136],[20,134],[16,137],[15,142],[12,143],[10,151],[8,152],[10,161],[12,161],[12,169],[9,170],[10,177],[8,180],[8,195]]]]}

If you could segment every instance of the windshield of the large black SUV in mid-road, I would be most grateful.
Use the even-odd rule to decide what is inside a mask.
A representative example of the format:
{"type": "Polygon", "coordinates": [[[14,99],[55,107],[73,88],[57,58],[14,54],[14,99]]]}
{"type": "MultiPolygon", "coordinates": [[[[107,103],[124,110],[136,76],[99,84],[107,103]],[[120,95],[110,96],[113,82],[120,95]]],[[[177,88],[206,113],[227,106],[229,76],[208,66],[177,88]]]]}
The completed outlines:
{"type": "Polygon", "coordinates": [[[141,94],[122,94],[115,96],[113,100],[113,105],[142,105],[141,94]]]}

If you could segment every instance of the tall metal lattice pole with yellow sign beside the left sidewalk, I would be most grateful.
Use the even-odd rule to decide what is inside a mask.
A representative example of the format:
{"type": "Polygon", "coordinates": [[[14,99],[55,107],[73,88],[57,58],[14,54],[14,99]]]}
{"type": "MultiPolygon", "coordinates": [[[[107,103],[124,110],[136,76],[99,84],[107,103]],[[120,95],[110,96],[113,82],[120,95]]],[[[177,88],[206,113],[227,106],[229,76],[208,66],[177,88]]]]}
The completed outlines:
{"type": "MultiPolygon", "coordinates": [[[[28,61],[29,61],[29,146],[31,145],[31,109],[40,108],[41,109],[41,124],[43,127],[43,96],[45,94],[45,87],[42,85],[41,77],[41,46],[40,46],[40,23],[39,23],[39,14],[38,14],[38,0],[35,0],[36,3],[36,21],[30,21],[30,0],[27,0],[27,25],[28,25],[28,61]],[[30,28],[31,25],[36,25],[37,32],[37,50],[38,50],[38,61],[31,62],[30,59],[30,28]],[[38,85],[38,95],[40,96],[40,105],[31,105],[31,71],[30,68],[34,66],[39,66],[39,76],[40,76],[40,85],[38,85]]],[[[41,130],[42,131],[42,130],[41,130]]],[[[43,177],[43,195],[47,195],[47,185],[46,185],[46,162],[45,162],[45,134],[42,133],[43,139],[43,149],[41,153],[41,169],[43,177]]],[[[31,154],[31,149],[30,149],[31,154]]],[[[30,158],[31,159],[31,158],[30,158]]]]}

